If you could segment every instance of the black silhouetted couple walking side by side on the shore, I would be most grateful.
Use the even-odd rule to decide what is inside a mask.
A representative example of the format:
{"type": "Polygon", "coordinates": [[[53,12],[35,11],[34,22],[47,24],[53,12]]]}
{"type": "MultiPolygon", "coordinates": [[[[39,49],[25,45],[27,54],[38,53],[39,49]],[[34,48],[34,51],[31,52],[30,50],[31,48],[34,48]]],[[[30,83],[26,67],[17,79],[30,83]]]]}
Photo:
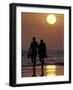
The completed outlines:
{"type": "Polygon", "coordinates": [[[31,42],[30,48],[28,51],[28,58],[30,57],[33,63],[33,75],[32,76],[36,76],[35,65],[36,65],[37,55],[39,56],[39,60],[41,62],[41,70],[42,70],[41,76],[44,76],[44,70],[43,70],[44,58],[47,57],[46,44],[43,42],[43,40],[40,40],[40,43],[38,44],[36,42],[35,37],[33,37],[32,39],[33,41],[31,42]]]}

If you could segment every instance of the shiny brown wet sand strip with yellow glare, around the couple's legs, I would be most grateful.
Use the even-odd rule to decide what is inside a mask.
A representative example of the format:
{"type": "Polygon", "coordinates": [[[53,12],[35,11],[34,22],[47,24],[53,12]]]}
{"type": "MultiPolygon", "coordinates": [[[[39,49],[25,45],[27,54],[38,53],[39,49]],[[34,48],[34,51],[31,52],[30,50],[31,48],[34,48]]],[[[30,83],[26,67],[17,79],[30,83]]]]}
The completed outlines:
{"type": "MultiPolygon", "coordinates": [[[[36,66],[36,76],[41,75],[41,66],[36,66]]],[[[22,67],[22,77],[32,77],[33,67],[24,66],[22,67]]],[[[57,76],[64,75],[64,66],[63,65],[44,65],[44,76],[57,76]]]]}

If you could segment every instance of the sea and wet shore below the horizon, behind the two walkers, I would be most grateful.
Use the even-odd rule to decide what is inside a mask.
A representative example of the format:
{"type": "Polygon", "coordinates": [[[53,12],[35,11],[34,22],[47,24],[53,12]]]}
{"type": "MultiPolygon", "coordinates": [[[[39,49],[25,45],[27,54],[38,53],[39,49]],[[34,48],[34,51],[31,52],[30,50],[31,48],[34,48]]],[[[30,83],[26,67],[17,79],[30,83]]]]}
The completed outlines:
{"type": "MultiPolygon", "coordinates": [[[[27,55],[22,56],[21,77],[32,77],[33,64],[27,55]]],[[[41,63],[39,58],[36,58],[35,67],[36,77],[41,75],[41,63]]],[[[44,59],[44,76],[61,76],[64,75],[64,57],[63,53],[51,53],[44,59]]]]}

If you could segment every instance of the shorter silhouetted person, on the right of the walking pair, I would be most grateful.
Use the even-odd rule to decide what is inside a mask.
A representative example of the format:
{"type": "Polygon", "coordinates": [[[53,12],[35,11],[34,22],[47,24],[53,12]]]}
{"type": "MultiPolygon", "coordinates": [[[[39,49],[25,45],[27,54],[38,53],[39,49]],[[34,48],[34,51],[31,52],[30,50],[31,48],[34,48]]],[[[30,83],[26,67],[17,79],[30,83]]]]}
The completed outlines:
{"type": "Polygon", "coordinates": [[[42,69],[41,76],[44,76],[43,66],[44,66],[44,58],[47,57],[47,52],[46,52],[46,44],[43,42],[43,40],[40,40],[40,44],[38,45],[38,55],[41,62],[41,69],[42,69]]]}

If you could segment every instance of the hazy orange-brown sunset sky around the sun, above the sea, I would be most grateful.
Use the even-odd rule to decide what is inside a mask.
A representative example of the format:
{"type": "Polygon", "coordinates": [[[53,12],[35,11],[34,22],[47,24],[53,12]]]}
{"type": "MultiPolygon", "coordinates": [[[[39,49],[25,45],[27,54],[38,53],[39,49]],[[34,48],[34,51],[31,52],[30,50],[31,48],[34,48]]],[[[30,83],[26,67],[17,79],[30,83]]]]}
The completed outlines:
{"type": "Polygon", "coordinates": [[[21,15],[22,49],[29,49],[32,37],[46,43],[47,50],[63,50],[64,48],[64,15],[52,14],[56,17],[55,24],[47,22],[50,13],[25,13],[21,15]]]}

